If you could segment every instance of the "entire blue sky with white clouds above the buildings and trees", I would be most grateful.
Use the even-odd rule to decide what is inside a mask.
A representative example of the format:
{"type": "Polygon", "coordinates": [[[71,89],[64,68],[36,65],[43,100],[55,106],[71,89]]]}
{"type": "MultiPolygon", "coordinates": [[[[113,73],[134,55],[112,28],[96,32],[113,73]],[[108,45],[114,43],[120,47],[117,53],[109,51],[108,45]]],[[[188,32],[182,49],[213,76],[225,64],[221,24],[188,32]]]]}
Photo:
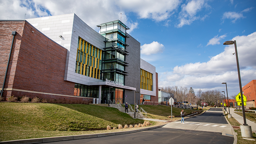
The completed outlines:
{"type": "Polygon", "coordinates": [[[76,13],[86,24],[121,20],[138,39],[141,58],[156,67],[159,87],[195,92],[239,92],[236,40],[242,86],[256,79],[255,0],[0,0],[1,20],[76,13]],[[122,7],[122,8],[121,8],[122,7]]]}

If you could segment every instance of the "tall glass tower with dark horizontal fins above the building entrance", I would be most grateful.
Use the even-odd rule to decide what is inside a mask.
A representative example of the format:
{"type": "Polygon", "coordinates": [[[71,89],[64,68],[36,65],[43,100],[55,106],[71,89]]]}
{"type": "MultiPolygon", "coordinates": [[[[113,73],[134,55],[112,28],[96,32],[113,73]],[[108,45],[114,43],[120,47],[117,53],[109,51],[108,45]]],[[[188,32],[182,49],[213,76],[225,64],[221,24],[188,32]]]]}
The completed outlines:
{"type": "Polygon", "coordinates": [[[118,84],[124,85],[125,76],[128,72],[125,67],[128,63],[125,61],[128,51],[126,47],[126,30],[129,29],[120,20],[114,20],[98,25],[100,27],[100,34],[104,36],[105,48],[102,55],[102,80],[115,81],[118,84]]]}

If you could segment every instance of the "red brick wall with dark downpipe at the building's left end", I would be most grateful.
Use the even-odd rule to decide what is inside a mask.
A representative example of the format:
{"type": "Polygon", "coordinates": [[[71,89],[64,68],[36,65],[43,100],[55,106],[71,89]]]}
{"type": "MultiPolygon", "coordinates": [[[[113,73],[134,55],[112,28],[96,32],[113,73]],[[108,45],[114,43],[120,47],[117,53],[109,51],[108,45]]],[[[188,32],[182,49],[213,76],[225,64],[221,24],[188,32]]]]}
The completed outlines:
{"type": "MultiPolygon", "coordinates": [[[[53,94],[4,91],[5,98],[11,95],[54,99],[64,98],[54,94],[73,96],[75,83],[64,81],[67,49],[44,36],[28,22],[1,21],[0,25],[1,44],[5,45],[5,47],[1,46],[1,64],[2,62],[7,64],[8,57],[6,58],[6,55],[9,55],[8,49],[10,51],[11,47],[11,34],[12,31],[17,32],[4,89],[13,88],[53,94]]],[[[6,64],[4,68],[1,65],[1,84],[3,84],[6,64]]]]}

